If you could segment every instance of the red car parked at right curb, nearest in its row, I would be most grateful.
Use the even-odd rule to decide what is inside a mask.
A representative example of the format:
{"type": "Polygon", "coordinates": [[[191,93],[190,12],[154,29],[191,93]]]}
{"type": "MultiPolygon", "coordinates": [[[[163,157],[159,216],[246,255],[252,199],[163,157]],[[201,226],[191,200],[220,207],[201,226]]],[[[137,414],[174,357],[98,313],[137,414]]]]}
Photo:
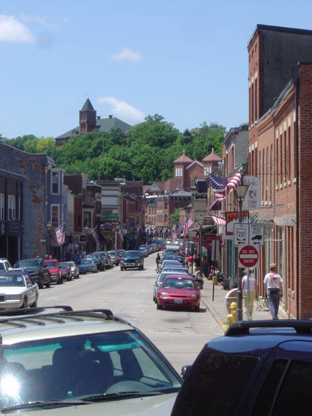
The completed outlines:
{"type": "Polygon", "coordinates": [[[157,309],[177,306],[200,310],[200,290],[195,279],[189,275],[170,275],[164,279],[157,292],[157,309]]]}

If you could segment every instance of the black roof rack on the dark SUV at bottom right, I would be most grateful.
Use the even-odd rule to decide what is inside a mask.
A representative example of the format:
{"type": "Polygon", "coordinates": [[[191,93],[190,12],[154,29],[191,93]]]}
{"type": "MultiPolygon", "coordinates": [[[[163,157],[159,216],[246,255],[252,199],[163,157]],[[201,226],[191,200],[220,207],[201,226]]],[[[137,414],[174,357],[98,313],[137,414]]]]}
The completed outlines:
{"type": "Polygon", "coordinates": [[[250,328],[293,328],[300,334],[312,334],[312,320],[257,320],[234,322],[225,336],[250,333],[250,328]]]}

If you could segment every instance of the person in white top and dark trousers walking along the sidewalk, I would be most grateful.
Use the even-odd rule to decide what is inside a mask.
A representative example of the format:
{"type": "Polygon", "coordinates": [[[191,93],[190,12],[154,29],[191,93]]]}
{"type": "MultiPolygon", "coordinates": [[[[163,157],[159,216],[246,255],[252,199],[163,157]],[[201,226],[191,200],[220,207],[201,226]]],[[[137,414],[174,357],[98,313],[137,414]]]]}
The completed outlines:
{"type": "Polygon", "coordinates": [[[270,264],[270,272],[264,277],[264,286],[268,295],[268,304],[273,320],[277,320],[279,313],[279,300],[283,297],[283,280],[277,273],[277,265],[270,264]]]}

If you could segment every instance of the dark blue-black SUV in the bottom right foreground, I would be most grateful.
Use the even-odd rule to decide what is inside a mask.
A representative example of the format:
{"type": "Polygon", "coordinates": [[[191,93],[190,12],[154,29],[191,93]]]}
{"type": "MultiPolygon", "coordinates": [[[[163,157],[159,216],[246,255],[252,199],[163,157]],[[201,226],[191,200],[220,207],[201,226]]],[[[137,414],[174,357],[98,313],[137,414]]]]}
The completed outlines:
{"type": "Polygon", "coordinates": [[[311,329],[311,320],[235,322],[189,367],[171,416],[309,414],[311,329]]]}

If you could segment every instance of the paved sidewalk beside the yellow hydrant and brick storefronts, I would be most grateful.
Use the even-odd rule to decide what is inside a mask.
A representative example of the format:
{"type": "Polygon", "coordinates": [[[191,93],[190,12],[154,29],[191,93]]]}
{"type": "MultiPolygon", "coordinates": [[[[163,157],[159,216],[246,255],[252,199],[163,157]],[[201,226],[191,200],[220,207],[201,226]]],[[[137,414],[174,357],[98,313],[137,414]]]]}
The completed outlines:
{"type": "MultiPolygon", "coordinates": [[[[225,295],[227,291],[223,289],[221,285],[214,286],[214,301],[212,300],[213,284],[211,280],[205,279],[204,288],[201,292],[200,302],[202,306],[207,307],[207,311],[214,316],[214,319],[220,324],[223,329],[227,329],[227,307],[225,305],[225,295]]],[[[254,310],[252,312],[252,320],[271,320],[272,316],[270,310],[266,306],[261,306],[260,310],[257,310],[257,300],[254,301],[254,310]]],[[[259,308],[258,308],[259,309],[259,308]]],[[[281,308],[280,308],[281,309],[281,308]]],[[[246,314],[243,311],[243,320],[246,320],[246,314]]]]}

